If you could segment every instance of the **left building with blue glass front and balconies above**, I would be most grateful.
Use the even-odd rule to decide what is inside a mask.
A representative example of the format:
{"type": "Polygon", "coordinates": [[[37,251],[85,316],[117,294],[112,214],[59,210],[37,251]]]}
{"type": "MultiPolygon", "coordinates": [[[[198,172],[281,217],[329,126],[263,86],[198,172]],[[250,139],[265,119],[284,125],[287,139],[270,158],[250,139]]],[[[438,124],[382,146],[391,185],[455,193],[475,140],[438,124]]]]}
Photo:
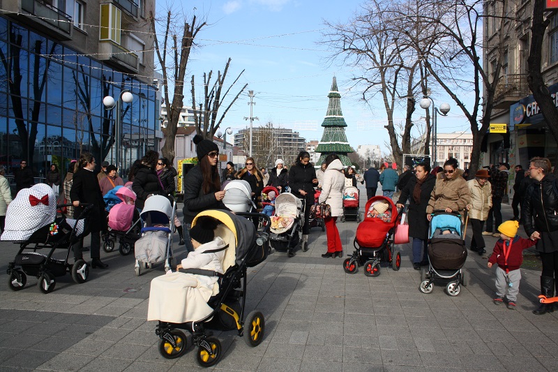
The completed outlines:
{"type": "Polygon", "coordinates": [[[153,87],[153,36],[146,14],[153,0],[0,0],[0,154],[8,172],[26,159],[36,177],[51,164],[62,174],[90,151],[98,165],[124,174],[156,149],[160,102],[153,87]],[[123,103],[120,143],[116,110],[123,103]],[[151,140],[149,140],[151,138],[151,140]]]}

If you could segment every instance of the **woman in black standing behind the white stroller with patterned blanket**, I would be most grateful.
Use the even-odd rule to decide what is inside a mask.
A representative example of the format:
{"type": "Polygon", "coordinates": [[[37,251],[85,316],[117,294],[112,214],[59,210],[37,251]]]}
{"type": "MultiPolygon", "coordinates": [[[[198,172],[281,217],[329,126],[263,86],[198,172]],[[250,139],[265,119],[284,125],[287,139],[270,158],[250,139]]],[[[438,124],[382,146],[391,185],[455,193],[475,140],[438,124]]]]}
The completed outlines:
{"type": "Polygon", "coordinates": [[[308,244],[310,232],[310,206],[314,204],[315,186],[318,185],[316,170],[310,163],[308,151],[301,151],[296,158],[296,163],[289,171],[289,188],[296,198],[304,199],[304,225],[302,227],[302,244],[308,244]]]}

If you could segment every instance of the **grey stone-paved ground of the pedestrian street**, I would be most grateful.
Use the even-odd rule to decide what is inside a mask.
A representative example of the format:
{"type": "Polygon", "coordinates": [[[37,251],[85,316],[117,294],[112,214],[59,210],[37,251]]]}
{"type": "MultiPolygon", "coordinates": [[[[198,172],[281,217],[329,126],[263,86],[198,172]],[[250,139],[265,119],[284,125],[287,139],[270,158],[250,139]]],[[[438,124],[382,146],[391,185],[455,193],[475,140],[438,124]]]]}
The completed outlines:
{"type": "MultiPolygon", "coordinates": [[[[510,218],[511,208],[503,209],[510,218]]],[[[356,225],[338,223],[349,253],[356,225]]],[[[496,238],[486,240],[490,253],[496,238]]],[[[217,332],[225,353],[213,370],[558,370],[558,313],[531,313],[536,260],[534,269],[522,269],[518,308],[508,310],[492,304],[492,271],[476,253],[469,253],[469,286],[458,297],[442,286],[423,295],[410,248],[400,246],[400,271],[382,267],[376,278],[362,269],[345,274],[341,258],[322,258],[326,235],[317,228],[308,252],[273,253],[248,276],[247,311],[264,313],[264,341],[249,348],[236,332],[217,332]]],[[[0,371],[202,371],[193,349],[179,359],[161,357],[155,325],[145,320],[149,283],[162,267],[137,277],[133,255],[103,252],[110,269],[92,269],[82,285],[67,275],[43,295],[28,278],[24,290],[12,292],[6,267],[16,251],[0,243],[0,371]]],[[[183,257],[183,248],[175,253],[183,257]]]]}

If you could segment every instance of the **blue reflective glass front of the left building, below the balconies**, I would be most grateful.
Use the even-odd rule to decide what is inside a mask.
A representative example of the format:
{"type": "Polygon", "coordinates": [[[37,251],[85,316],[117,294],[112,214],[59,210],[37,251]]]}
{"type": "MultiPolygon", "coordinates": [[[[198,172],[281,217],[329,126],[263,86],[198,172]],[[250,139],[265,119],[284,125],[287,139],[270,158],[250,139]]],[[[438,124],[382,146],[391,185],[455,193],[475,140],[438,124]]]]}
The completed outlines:
{"type": "MultiPolygon", "coordinates": [[[[93,56],[94,57],[94,56],[93,56]]],[[[97,164],[115,163],[121,175],[145,151],[156,150],[156,88],[84,54],[0,17],[0,165],[7,173],[25,159],[36,177],[56,164],[62,176],[82,151],[97,164]],[[121,143],[115,141],[116,109],[103,105],[128,89],[121,107],[121,143]]]]}

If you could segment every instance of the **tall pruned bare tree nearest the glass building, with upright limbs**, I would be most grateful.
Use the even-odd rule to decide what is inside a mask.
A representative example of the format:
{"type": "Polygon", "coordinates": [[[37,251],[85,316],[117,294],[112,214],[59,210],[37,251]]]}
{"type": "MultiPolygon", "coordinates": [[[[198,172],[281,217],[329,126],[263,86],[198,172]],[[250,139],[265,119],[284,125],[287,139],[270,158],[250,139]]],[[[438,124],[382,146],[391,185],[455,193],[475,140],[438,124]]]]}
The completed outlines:
{"type": "Polygon", "coordinates": [[[194,15],[191,20],[186,20],[181,15],[183,22],[176,22],[175,16],[171,11],[167,12],[165,23],[165,32],[163,33],[162,45],[160,36],[156,32],[156,18],[153,12],[150,12],[151,31],[153,32],[155,51],[163,74],[163,98],[165,99],[165,108],[167,110],[167,128],[163,131],[165,135],[165,144],[163,145],[163,156],[174,161],[174,141],[176,139],[177,124],[179,122],[180,113],[183,107],[184,98],[184,77],[186,76],[186,68],[188,67],[188,59],[190,52],[195,45],[194,40],[198,32],[206,25],[206,22],[197,24],[197,18],[194,15]],[[177,34],[181,34],[180,40],[177,34]],[[171,40],[169,40],[171,38],[171,40]],[[172,46],[171,46],[172,44],[172,46]],[[169,96],[169,84],[174,84],[172,98],[169,96]]]}

